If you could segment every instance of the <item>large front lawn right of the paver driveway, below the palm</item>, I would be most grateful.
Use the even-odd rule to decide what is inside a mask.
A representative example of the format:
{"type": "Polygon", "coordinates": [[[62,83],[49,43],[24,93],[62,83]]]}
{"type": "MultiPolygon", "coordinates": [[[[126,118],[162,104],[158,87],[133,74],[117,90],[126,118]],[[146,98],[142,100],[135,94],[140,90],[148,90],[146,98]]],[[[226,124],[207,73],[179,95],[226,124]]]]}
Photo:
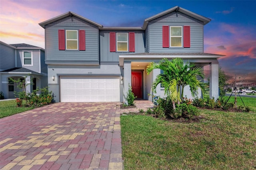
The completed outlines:
{"type": "MultiPolygon", "coordinates": [[[[256,110],[256,98],[242,99],[256,110]]],[[[122,115],[124,168],[255,169],[256,112],[200,112],[205,119],[197,123],[122,115]]]]}

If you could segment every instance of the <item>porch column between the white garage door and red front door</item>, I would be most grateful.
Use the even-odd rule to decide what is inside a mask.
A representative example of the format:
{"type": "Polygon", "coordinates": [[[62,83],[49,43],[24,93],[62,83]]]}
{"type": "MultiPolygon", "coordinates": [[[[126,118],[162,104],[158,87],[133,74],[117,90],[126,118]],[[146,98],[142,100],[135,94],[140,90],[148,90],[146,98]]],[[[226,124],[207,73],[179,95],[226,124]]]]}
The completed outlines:
{"type": "Polygon", "coordinates": [[[129,89],[129,85],[132,86],[132,66],[131,62],[124,62],[124,76],[123,76],[123,84],[124,84],[124,103],[127,103],[125,97],[126,93],[129,89]]]}

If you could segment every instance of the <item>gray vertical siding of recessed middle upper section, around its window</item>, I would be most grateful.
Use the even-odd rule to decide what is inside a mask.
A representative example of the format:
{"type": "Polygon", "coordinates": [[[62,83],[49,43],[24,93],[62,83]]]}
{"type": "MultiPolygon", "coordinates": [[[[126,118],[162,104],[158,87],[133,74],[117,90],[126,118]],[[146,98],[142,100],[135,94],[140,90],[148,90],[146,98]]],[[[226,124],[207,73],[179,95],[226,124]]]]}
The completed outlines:
{"type": "MultiPolygon", "coordinates": [[[[128,40],[129,41],[129,40],[128,40]]],[[[129,47],[128,47],[129,49],[129,47]]],[[[119,55],[134,54],[134,53],[144,53],[144,31],[100,31],[100,61],[103,62],[116,62],[119,61],[119,55]],[[135,33],[135,52],[110,52],[110,38],[109,33],[135,33]]]]}

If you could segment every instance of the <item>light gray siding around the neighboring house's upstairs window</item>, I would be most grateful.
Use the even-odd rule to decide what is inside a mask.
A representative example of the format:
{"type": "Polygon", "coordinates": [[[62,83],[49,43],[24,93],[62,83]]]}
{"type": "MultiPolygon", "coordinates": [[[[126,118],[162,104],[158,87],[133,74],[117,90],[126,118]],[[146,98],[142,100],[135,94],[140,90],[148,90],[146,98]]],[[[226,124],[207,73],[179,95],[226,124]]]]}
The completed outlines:
{"type": "Polygon", "coordinates": [[[17,67],[24,67],[35,72],[40,72],[39,55],[40,55],[39,50],[31,50],[31,49],[17,50],[17,67]],[[32,52],[32,66],[22,65],[23,51],[32,52]]]}

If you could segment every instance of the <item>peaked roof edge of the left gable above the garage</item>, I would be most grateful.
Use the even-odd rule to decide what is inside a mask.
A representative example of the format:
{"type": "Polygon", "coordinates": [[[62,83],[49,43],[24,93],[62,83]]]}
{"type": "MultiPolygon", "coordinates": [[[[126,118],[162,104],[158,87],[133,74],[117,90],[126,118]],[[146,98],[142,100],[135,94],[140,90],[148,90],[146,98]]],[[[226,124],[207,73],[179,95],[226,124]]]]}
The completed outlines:
{"type": "Polygon", "coordinates": [[[50,20],[41,22],[41,23],[39,23],[39,25],[44,28],[45,25],[47,25],[47,24],[49,24],[49,23],[52,23],[52,22],[54,22],[54,21],[61,20],[61,19],[66,18],[66,17],[68,17],[68,16],[71,16],[71,17],[72,17],[72,16],[75,16],[75,17],[77,17],[77,18],[80,18],[81,20],[84,20],[84,21],[87,21],[87,22],[89,22],[89,23],[92,23],[93,25],[96,25],[96,26],[99,27],[99,28],[102,28],[102,27],[103,27],[102,25],[100,25],[100,24],[98,24],[98,23],[96,23],[96,22],[94,22],[94,21],[88,20],[87,18],[84,18],[84,17],[82,17],[82,16],[80,16],[80,15],[78,15],[78,14],[75,14],[74,12],[67,12],[67,13],[65,13],[65,14],[62,14],[62,15],[57,16],[57,17],[55,17],[55,18],[52,18],[52,19],[50,19],[50,20]]]}

